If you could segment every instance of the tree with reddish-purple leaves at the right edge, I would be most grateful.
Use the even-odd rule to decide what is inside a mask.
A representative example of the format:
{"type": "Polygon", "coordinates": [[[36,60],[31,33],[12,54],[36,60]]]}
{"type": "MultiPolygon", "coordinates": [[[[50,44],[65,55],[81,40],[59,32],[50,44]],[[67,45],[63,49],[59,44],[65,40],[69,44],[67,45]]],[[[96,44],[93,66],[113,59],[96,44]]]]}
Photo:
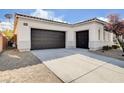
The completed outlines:
{"type": "Polygon", "coordinates": [[[105,25],[105,29],[116,35],[116,38],[124,52],[124,44],[119,39],[119,36],[124,35],[124,20],[122,20],[118,14],[110,14],[107,18],[109,22],[105,25]]]}

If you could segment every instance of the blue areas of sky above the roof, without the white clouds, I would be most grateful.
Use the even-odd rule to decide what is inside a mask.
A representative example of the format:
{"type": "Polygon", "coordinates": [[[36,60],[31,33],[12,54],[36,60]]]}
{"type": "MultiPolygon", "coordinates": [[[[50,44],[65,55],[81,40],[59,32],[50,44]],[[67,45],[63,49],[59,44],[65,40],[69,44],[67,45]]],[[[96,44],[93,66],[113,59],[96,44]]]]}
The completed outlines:
{"type": "MultiPolygon", "coordinates": [[[[22,13],[31,15],[36,9],[0,9],[0,20],[5,21],[4,15],[7,13],[22,13]]],[[[111,13],[118,13],[124,18],[124,10],[106,10],[106,9],[44,9],[43,11],[52,12],[54,17],[61,18],[69,23],[87,20],[93,17],[106,17],[111,13]]]]}

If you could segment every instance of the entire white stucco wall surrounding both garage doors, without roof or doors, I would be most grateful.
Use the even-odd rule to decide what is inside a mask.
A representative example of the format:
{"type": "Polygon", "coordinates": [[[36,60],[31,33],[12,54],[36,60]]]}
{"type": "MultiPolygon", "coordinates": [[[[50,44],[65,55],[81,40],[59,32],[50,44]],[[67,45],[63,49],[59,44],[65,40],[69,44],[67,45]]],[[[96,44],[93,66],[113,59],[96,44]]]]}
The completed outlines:
{"type": "MultiPolygon", "coordinates": [[[[89,30],[89,49],[97,50],[103,45],[110,44],[107,37],[103,40],[103,25],[97,22],[90,22],[79,25],[67,25],[61,23],[46,22],[40,20],[31,20],[19,18],[16,26],[17,30],[17,48],[20,51],[29,51],[31,48],[31,28],[50,29],[66,32],[66,48],[76,48],[76,31],[89,30]],[[28,23],[24,26],[23,23],[28,23]],[[98,30],[101,30],[100,40],[98,40],[98,30]]],[[[112,43],[112,34],[109,39],[112,43]]]]}

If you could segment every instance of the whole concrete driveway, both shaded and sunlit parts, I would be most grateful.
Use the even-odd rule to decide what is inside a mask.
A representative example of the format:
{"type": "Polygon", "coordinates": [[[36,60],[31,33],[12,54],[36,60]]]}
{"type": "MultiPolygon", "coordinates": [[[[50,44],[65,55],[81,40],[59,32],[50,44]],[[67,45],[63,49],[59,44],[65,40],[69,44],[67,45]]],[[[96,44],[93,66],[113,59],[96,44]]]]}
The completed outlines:
{"type": "Polygon", "coordinates": [[[64,82],[124,82],[124,61],[85,49],[34,50],[32,53],[64,82]]]}

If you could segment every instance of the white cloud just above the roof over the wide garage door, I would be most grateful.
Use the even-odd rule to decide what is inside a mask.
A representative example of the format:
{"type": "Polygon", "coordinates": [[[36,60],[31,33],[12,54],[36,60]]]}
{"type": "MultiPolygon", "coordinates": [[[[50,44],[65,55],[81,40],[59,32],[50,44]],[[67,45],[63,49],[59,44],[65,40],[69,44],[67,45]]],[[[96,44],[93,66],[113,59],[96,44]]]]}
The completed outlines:
{"type": "Polygon", "coordinates": [[[31,13],[31,16],[67,23],[64,21],[63,16],[56,17],[54,12],[43,9],[36,9],[35,12],[31,13]]]}

